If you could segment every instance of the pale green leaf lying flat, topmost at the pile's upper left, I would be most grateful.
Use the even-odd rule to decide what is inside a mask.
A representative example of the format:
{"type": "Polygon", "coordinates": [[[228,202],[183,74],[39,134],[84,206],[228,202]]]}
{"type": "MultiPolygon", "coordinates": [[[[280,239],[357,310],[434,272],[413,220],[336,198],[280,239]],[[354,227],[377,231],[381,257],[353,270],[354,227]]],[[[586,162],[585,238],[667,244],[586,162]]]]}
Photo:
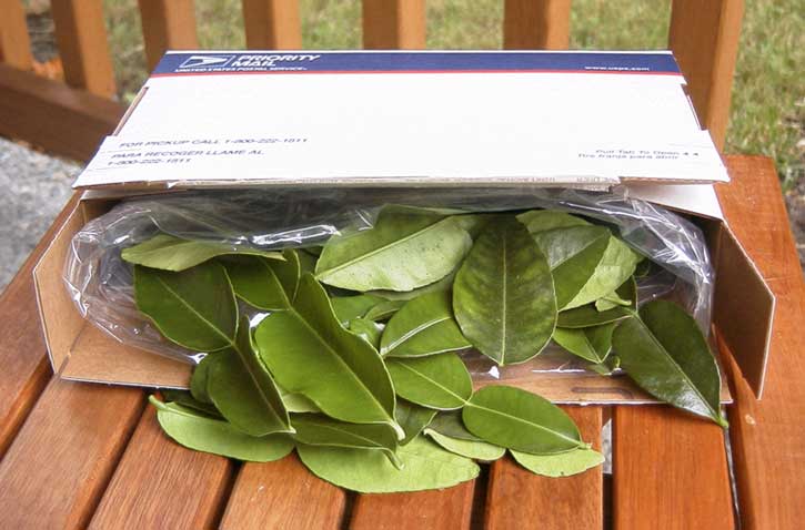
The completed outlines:
{"type": "Polygon", "coordinates": [[[123,248],[121,256],[124,261],[135,265],[180,272],[213,257],[228,254],[249,254],[271,259],[282,259],[279,252],[205,241],[181,239],[168,234],[158,234],[139,245],[123,248]]]}

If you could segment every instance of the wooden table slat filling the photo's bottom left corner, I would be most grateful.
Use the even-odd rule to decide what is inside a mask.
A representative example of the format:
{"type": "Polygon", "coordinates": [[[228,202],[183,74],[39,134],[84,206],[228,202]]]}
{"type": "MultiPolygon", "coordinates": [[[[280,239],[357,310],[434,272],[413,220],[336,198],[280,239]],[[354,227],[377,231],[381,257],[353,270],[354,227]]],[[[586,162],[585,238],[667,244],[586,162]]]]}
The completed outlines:
{"type": "Polygon", "coordinates": [[[53,378],[0,461],[0,528],[85,528],[143,393],[53,378]]]}

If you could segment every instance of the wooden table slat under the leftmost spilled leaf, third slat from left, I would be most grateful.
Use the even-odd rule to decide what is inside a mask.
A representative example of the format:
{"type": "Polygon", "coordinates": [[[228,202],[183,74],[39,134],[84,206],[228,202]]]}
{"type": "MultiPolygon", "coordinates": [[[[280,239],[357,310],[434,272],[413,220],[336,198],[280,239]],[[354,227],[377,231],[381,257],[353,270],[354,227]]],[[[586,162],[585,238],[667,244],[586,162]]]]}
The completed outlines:
{"type": "Polygon", "coordinates": [[[213,528],[234,465],[169,439],[149,406],[114,471],[91,529],[213,528]]]}

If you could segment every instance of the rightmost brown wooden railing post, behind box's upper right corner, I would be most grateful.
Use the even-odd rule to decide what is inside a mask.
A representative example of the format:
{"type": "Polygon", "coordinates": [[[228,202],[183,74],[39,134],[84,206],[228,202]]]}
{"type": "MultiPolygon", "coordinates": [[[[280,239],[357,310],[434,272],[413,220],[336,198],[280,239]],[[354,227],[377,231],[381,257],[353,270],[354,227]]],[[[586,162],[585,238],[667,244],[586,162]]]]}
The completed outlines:
{"type": "Polygon", "coordinates": [[[668,47],[685,74],[698,121],[718,150],[729,120],[743,14],[743,0],[674,0],[671,9],[668,47]]]}

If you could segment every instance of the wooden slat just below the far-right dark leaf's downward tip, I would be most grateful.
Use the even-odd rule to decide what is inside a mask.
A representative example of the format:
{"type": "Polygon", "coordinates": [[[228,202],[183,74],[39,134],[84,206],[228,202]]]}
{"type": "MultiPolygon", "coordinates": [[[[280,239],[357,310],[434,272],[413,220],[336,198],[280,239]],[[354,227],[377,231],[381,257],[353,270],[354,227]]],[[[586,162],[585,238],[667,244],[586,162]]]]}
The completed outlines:
{"type": "Polygon", "coordinates": [[[664,405],[615,407],[612,422],[615,528],[735,529],[721,427],[664,405]]]}

